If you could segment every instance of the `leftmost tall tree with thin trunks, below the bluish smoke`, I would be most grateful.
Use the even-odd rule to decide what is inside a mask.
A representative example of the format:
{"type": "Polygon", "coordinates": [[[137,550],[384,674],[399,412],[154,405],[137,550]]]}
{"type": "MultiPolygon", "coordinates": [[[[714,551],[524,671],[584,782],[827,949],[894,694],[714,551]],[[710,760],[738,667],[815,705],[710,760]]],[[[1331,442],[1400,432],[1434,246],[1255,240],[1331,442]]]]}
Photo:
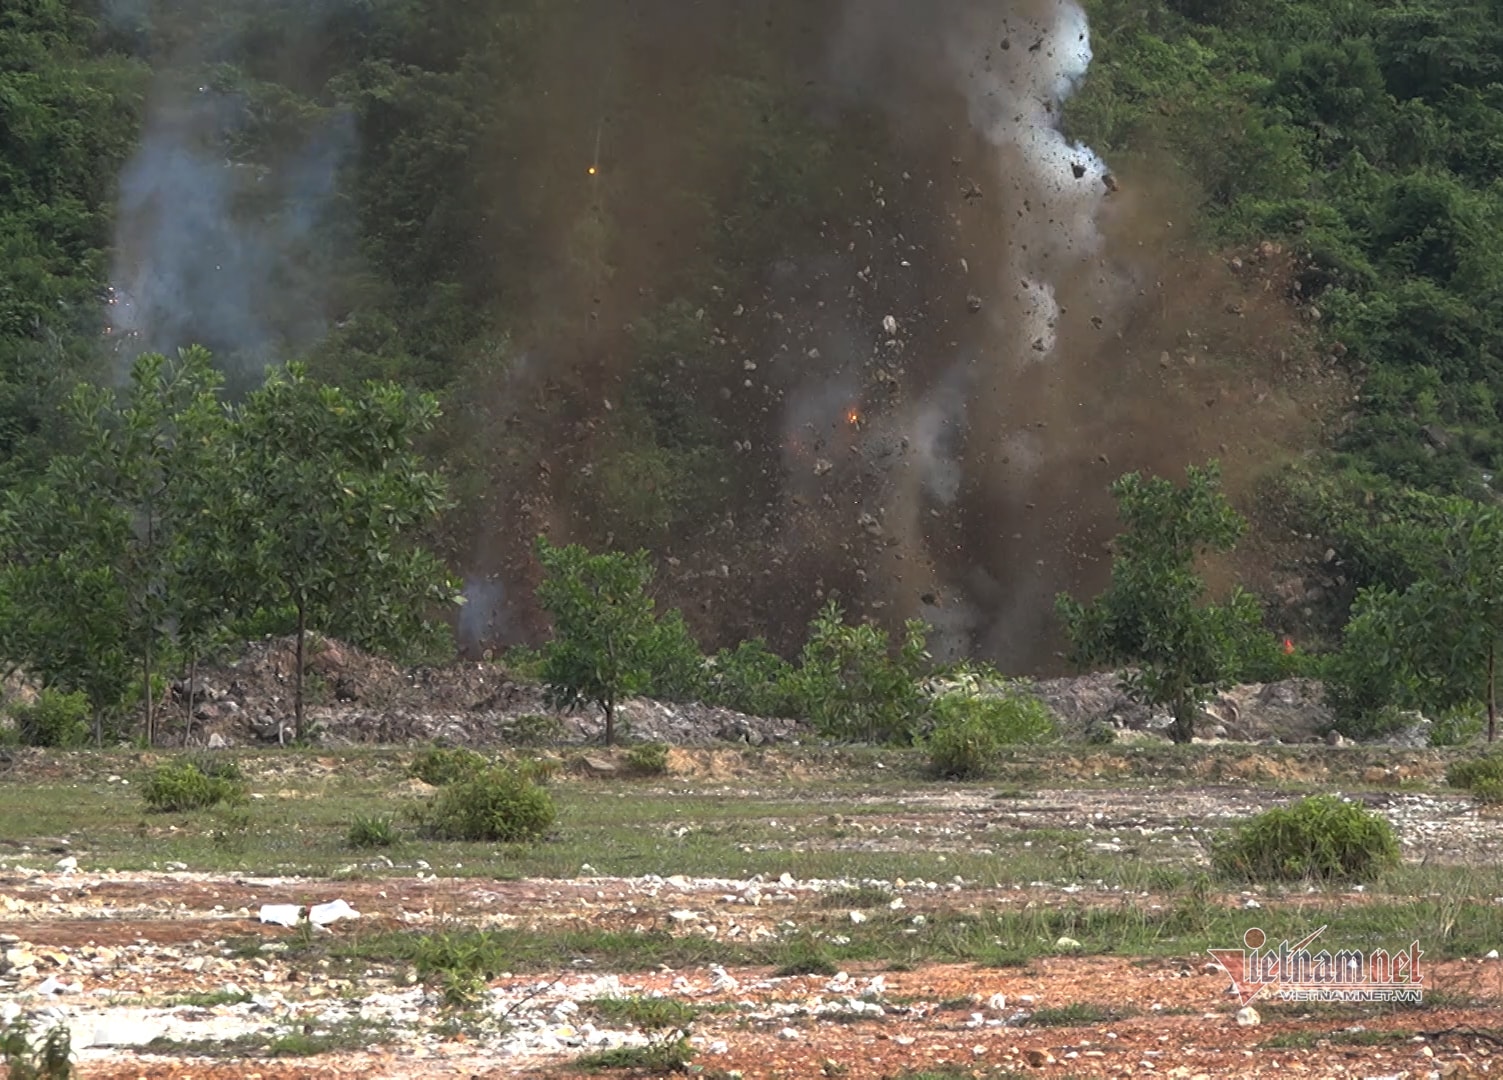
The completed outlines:
{"type": "Polygon", "coordinates": [[[222,457],[218,388],[201,348],[138,357],[123,398],[75,388],[72,452],[54,457],[6,515],[9,587],[26,596],[27,614],[6,653],[44,679],[86,689],[96,736],[102,715],[123,700],[120,665],[134,664],[152,744],[156,673],[173,629],[222,622],[230,578],[183,572],[213,554],[185,536],[185,524],[222,457]]]}

